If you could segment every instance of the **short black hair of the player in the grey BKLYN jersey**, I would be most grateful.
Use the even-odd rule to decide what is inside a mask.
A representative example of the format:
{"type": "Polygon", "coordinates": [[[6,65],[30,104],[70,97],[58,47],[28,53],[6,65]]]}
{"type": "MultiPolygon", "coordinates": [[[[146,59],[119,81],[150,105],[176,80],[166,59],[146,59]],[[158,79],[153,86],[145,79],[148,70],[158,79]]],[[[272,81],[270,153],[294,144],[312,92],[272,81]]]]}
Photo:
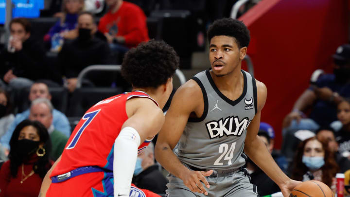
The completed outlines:
{"type": "Polygon", "coordinates": [[[215,20],[208,29],[209,42],[214,36],[234,37],[238,48],[248,47],[250,36],[249,30],[242,21],[232,18],[215,20]]]}

